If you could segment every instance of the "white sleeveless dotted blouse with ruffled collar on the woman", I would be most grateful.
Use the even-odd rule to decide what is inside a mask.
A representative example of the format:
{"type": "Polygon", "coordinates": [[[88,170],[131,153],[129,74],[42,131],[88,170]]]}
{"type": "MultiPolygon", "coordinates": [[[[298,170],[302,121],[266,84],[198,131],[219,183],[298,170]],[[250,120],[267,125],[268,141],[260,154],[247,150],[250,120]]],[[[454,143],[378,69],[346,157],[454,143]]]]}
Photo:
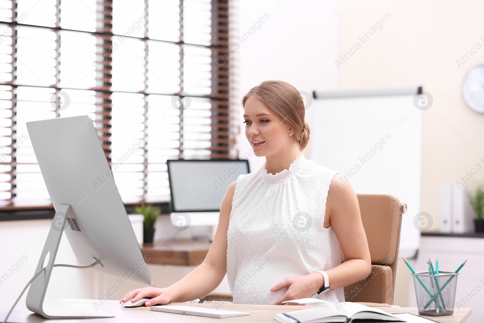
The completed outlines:
{"type": "MultiPolygon", "coordinates": [[[[266,163],[237,178],[227,231],[227,278],[234,304],[272,305],[289,277],[341,264],[333,228],[324,228],[326,199],[337,172],[301,154],[272,175],[266,163]]],[[[310,297],[344,302],[343,288],[310,297]]]]}

